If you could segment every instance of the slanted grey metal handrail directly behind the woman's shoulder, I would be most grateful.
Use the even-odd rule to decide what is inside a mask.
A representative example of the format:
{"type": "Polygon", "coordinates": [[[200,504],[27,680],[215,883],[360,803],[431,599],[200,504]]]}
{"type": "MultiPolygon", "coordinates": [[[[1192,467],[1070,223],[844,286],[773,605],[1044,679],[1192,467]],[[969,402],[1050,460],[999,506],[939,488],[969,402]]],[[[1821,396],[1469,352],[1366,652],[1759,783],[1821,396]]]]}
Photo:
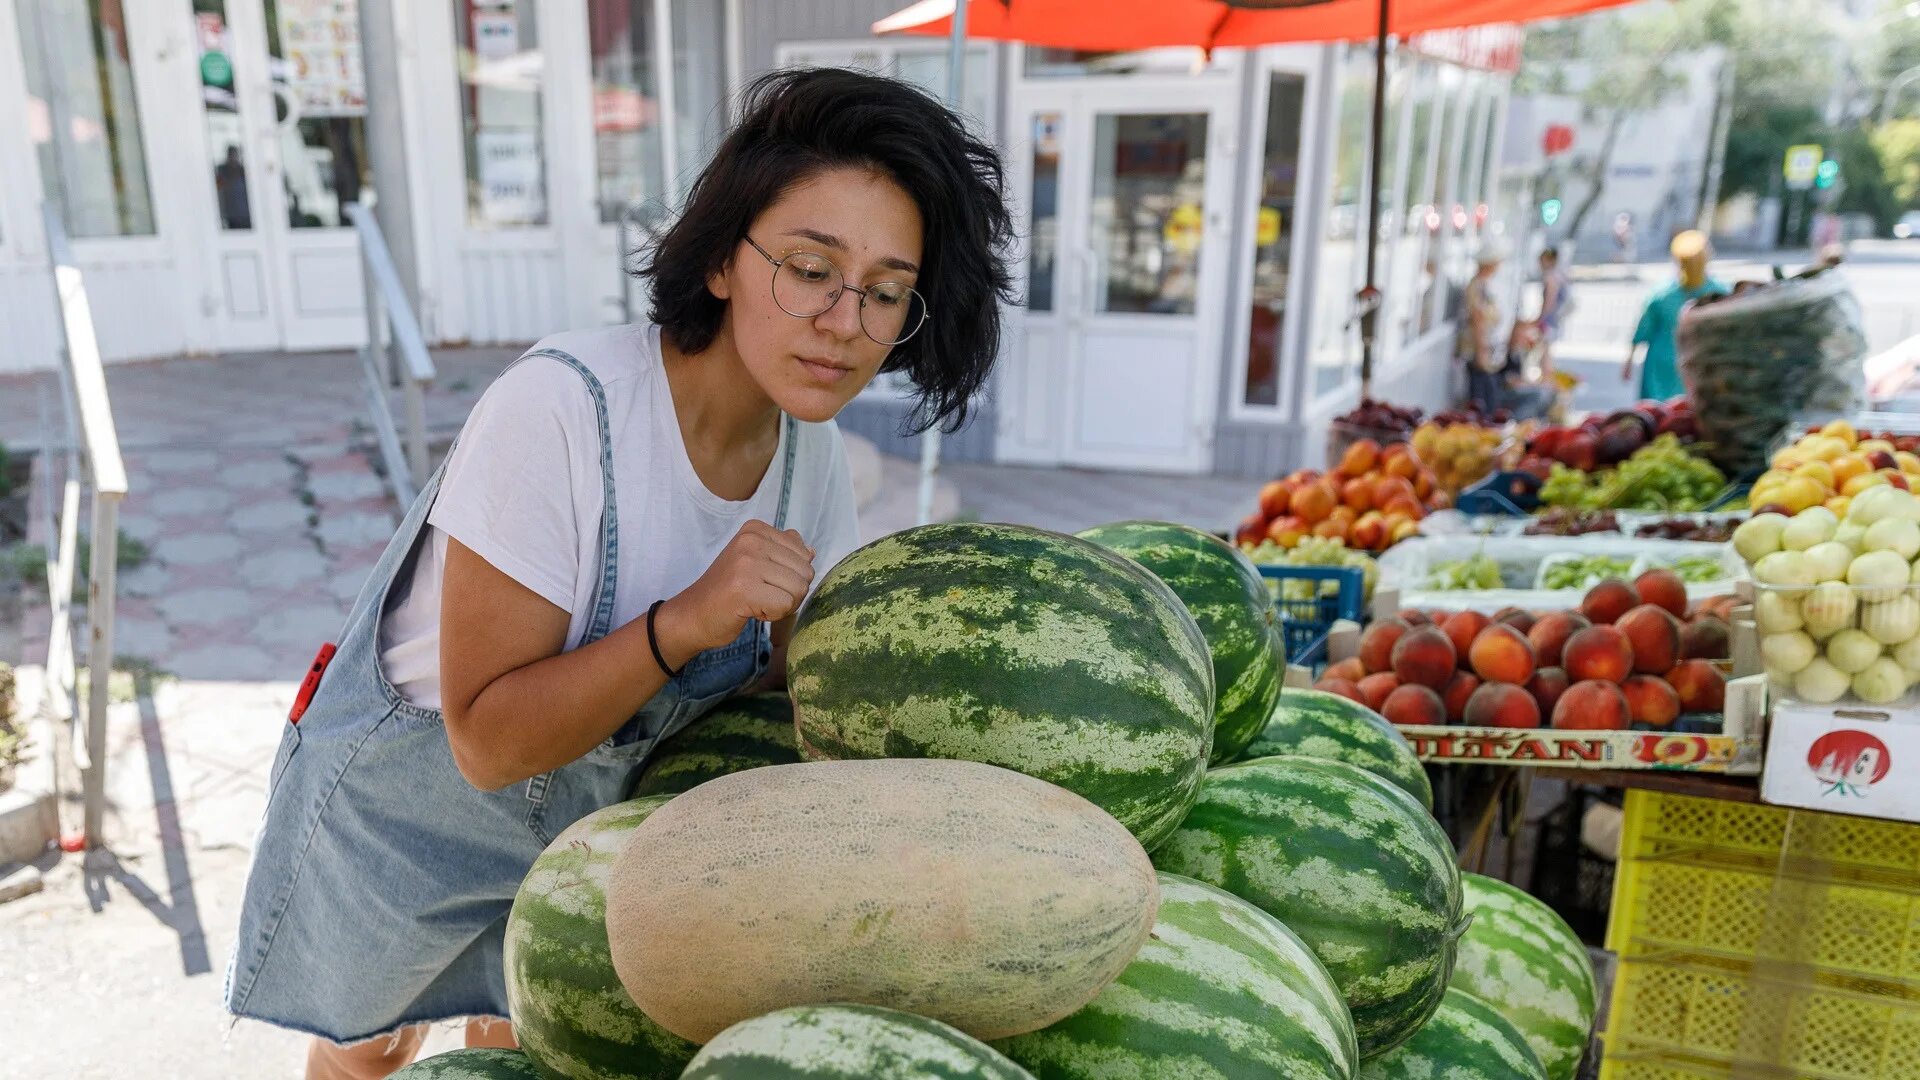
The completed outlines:
{"type": "Polygon", "coordinates": [[[348,204],[348,221],[359,236],[361,271],[367,294],[367,348],[361,350],[361,369],[367,375],[367,404],[372,413],[374,440],[386,463],[386,482],[401,509],[413,505],[413,496],[426,482],[426,388],[434,382],[434,357],[426,354],[420,321],[399,284],[394,256],[372,209],[348,204]],[[399,365],[396,365],[396,354],[399,365]],[[388,386],[399,386],[407,411],[407,442],[401,450],[388,386]]]}

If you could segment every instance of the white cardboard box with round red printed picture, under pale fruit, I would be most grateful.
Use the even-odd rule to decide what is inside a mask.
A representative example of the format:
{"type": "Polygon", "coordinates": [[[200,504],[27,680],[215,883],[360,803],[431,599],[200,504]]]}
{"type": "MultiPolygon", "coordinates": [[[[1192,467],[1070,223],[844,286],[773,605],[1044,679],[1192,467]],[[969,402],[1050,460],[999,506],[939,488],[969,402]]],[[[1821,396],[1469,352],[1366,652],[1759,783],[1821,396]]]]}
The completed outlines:
{"type": "Polygon", "coordinates": [[[1872,705],[1774,707],[1761,799],[1889,821],[1920,821],[1920,711],[1872,705]]]}

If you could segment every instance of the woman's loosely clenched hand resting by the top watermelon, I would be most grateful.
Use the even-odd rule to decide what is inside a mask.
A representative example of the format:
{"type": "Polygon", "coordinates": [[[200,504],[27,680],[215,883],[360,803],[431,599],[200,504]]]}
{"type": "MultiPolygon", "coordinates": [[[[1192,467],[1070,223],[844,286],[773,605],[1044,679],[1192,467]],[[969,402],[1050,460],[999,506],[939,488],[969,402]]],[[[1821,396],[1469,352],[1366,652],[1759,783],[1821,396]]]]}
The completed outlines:
{"type": "Polygon", "coordinates": [[[749,521],[707,573],[660,605],[657,644],[682,667],[695,653],[732,644],[747,621],[780,623],[814,582],[814,550],[791,528],[749,521]]]}

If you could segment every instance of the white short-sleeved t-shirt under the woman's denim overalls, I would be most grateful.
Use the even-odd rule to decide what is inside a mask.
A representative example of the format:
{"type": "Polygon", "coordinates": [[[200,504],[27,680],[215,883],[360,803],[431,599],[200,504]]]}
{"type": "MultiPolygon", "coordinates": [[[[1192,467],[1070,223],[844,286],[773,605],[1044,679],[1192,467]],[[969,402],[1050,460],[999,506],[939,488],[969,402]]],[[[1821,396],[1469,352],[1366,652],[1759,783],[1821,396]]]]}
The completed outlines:
{"type": "MultiPolygon", "coordinates": [[[[612,436],[618,567],[612,628],[693,584],[751,519],[774,521],[787,430],[745,502],[701,482],[680,438],[660,363],[659,327],[570,331],[541,340],[588,365],[607,394],[612,436]]],[[[787,528],[816,552],[814,580],[860,544],[852,477],[839,427],[795,423],[787,528]]],[[[447,536],[572,613],[566,650],[582,644],[601,573],[601,440],[578,371],[545,356],[520,359],[488,386],[461,429],[428,513],[411,580],[396,582],[380,628],[380,667],[407,701],[440,707],[440,580],[447,536]]]]}

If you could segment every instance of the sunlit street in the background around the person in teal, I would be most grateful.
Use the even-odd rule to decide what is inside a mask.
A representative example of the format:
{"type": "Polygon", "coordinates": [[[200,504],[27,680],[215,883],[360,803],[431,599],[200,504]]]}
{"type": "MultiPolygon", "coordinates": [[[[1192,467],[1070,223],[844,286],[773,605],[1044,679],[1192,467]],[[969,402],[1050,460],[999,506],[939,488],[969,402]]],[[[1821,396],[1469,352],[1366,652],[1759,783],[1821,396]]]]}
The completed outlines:
{"type": "MultiPolygon", "coordinates": [[[[1782,265],[1797,271],[1805,252],[1782,252],[1782,265]]],[[[1843,267],[1866,315],[1872,354],[1920,334],[1920,240],[1855,240],[1843,267]]],[[[1715,259],[1713,275],[1736,281],[1766,281],[1770,263],[1753,256],[1715,259]]],[[[1672,263],[1594,265],[1572,269],[1574,311],[1567,334],[1555,350],[1555,363],[1584,379],[1574,394],[1582,409],[1615,409],[1634,400],[1632,386],[1620,382],[1620,361],[1647,294],[1672,277],[1672,263]]],[[[1532,313],[1540,286],[1523,300],[1523,315],[1532,313]]]]}

